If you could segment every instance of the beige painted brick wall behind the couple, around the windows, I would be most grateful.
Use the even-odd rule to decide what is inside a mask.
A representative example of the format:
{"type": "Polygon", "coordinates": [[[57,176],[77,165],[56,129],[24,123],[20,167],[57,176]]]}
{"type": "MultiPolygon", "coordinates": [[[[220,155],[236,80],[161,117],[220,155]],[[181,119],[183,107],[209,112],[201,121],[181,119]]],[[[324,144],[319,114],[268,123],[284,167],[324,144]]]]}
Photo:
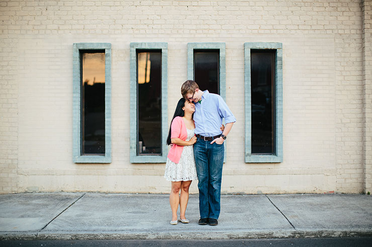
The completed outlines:
{"type": "MultiPolygon", "coordinates": [[[[361,1],[0,5],[2,73],[13,73],[2,74],[1,102],[14,111],[2,107],[0,192],[168,192],[165,164],[129,160],[130,42],[168,43],[169,120],[187,79],[187,43],[226,43],[226,99],[237,122],[227,140],[223,192],[359,193],[370,184],[371,118],[363,105],[371,95],[364,90],[371,56],[362,53],[370,41],[363,40],[368,15],[361,1]],[[111,164],[72,162],[72,44],[79,42],[112,44],[111,164]],[[245,42],[283,43],[282,163],[244,162],[245,42]],[[13,60],[5,64],[4,57],[13,60]]],[[[191,191],[197,190],[194,182],[191,191]]]]}

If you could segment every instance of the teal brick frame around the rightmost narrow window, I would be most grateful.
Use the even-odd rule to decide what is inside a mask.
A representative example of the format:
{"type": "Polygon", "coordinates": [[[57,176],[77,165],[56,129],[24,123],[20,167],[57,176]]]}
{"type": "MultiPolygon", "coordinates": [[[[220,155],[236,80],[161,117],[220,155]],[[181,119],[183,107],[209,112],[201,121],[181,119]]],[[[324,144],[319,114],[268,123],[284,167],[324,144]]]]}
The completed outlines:
{"type": "Polygon", "coordinates": [[[245,86],[245,162],[283,162],[283,45],[282,43],[244,43],[244,86],[245,86]],[[251,152],[251,64],[250,52],[276,50],[275,54],[275,154],[252,154],[251,152]]]}

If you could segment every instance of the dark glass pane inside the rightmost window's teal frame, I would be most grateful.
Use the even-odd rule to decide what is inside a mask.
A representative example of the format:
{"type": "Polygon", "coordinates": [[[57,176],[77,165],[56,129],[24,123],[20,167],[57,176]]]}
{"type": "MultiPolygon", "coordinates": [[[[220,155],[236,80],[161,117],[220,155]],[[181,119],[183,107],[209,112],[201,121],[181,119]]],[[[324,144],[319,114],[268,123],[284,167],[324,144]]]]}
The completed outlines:
{"type": "Polygon", "coordinates": [[[251,50],[252,154],[275,153],[275,53],[276,50],[251,50]]]}

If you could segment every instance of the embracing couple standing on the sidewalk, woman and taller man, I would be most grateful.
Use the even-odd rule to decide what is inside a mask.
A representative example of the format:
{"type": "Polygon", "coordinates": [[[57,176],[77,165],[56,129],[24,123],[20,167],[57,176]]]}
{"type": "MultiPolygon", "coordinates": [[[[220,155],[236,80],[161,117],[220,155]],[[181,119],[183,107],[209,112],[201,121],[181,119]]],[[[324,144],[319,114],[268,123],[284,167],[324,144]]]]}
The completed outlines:
{"type": "Polygon", "coordinates": [[[236,122],[221,96],[201,91],[195,81],[185,81],[182,97],[170,125],[169,150],[164,177],[172,181],[169,196],[170,224],[189,223],[185,217],[189,187],[199,179],[199,224],[218,224],[220,215],[221,178],[226,136],[236,122]],[[194,117],[193,117],[194,116],[194,117]],[[220,127],[225,118],[226,127],[220,127]],[[221,129],[220,129],[221,128],[221,129]],[[194,146],[194,147],[193,147],[194,146]],[[179,195],[179,190],[181,193],[179,195]],[[180,217],[177,220],[177,208],[180,217]]]}

